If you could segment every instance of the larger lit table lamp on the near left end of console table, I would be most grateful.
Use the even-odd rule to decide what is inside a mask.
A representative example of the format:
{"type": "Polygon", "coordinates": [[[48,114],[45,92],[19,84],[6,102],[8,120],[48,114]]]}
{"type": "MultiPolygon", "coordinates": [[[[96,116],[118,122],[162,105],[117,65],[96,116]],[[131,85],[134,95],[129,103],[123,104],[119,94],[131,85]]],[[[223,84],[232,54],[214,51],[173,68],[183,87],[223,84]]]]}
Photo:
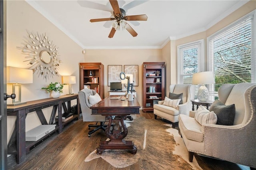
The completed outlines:
{"type": "Polygon", "coordinates": [[[21,69],[17,67],[6,67],[6,82],[13,83],[12,93],[16,94],[16,98],[12,99],[12,104],[8,106],[21,105],[21,84],[33,83],[33,71],[29,69],[21,69]]]}

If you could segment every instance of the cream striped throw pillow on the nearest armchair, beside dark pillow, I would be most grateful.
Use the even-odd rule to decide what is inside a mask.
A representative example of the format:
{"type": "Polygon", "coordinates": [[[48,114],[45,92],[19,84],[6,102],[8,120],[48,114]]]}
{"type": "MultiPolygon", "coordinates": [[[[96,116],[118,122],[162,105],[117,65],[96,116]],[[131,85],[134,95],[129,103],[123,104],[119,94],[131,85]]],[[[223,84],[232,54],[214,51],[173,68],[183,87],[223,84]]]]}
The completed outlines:
{"type": "Polygon", "coordinates": [[[213,111],[208,111],[205,107],[200,105],[196,111],[195,119],[202,124],[216,124],[217,115],[213,111]]]}

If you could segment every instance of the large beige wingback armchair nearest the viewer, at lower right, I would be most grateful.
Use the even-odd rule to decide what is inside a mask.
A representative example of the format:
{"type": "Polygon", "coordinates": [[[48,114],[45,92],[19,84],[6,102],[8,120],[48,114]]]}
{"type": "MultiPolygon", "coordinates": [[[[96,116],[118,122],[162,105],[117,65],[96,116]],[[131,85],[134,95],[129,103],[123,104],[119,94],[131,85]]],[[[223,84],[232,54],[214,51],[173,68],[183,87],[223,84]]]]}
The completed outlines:
{"type": "Polygon", "coordinates": [[[225,84],[218,95],[225,105],[235,104],[234,125],[201,126],[194,119],[195,111],[179,117],[190,162],[195,152],[256,168],[256,84],[225,84]]]}

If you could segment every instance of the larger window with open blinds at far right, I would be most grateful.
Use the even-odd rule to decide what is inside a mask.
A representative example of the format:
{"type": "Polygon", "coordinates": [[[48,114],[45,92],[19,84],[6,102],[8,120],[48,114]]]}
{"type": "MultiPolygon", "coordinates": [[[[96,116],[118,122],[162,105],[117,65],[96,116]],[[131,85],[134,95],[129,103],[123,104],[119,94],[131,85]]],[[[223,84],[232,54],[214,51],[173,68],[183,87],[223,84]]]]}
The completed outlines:
{"type": "Polygon", "coordinates": [[[255,17],[252,12],[208,38],[208,70],[214,72],[215,85],[209,92],[217,96],[227,83],[255,82],[255,17]]]}

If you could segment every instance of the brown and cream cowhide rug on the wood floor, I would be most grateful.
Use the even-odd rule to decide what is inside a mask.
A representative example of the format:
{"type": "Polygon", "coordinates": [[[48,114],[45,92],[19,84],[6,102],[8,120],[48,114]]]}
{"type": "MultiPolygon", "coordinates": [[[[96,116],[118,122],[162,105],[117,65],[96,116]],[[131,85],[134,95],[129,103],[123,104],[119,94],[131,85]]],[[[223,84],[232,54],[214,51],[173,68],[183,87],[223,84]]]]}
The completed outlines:
{"type": "Polygon", "coordinates": [[[182,169],[200,170],[200,166],[193,159],[188,161],[188,151],[178,130],[161,119],[146,119],[136,117],[133,121],[126,121],[128,135],[125,140],[132,140],[138,151],[132,155],[128,150],[105,150],[101,155],[96,150],[90,153],[85,162],[95,158],[102,158],[115,168],[124,168],[138,161],[146,161],[152,169],[182,169]]]}

